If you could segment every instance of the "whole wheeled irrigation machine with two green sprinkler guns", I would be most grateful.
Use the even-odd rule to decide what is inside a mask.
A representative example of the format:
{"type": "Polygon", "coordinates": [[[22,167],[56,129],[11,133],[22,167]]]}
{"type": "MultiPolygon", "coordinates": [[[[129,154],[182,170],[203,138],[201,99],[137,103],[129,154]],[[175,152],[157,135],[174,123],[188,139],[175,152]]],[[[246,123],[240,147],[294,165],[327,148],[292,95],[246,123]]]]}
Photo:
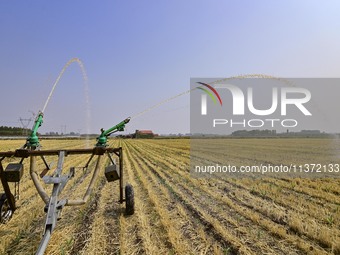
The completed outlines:
{"type": "MultiPolygon", "coordinates": [[[[0,152],[0,179],[5,193],[0,194],[0,221],[8,222],[16,210],[16,200],[19,199],[19,183],[24,172],[24,160],[29,159],[30,176],[34,186],[45,203],[43,208],[46,212],[46,221],[43,237],[36,254],[44,254],[51,234],[60,219],[61,211],[65,206],[79,206],[85,204],[92,191],[94,184],[101,171],[101,159],[103,156],[109,158],[109,166],[105,168],[104,174],[108,182],[119,181],[119,202],[126,204],[126,214],[134,213],[134,192],[131,185],[127,184],[124,188],[123,178],[123,150],[122,147],[112,148],[107,145],[108,137],[118,131],[124,131],[125,125],[130,121],[127,118],[108,130],[101,129],[101,134],[97,137],[97,143],[90,149],[61,149],[61,150],[42,150],[37,136],[38,128],[43,123],[43,112],[39,112],[28,136],[26,143],[15,151],[0,152]],[[64,160],[69,155],[88,154],[89,159],[83,167],[71,167],[68,173],[64,173],[64,160]],[[58,162],[55,169],[51,169],[51,164],[47,162],[47,156],[57,156],[58,162]],[[17,163],[8,163],[4,168],[5,158],[15,159],[17,163]],[[118,160],[117,160],[118,159],[118,160]],[[37,169],[37,161],[43,161],[43,169],[37,169]],[[67,182],[74,177],[78,169],[87,170],[90,162],[96,160],[91,181],[83,196],[83,199],[60,199],[59,195],[65,188],[67,182]],[[40,174],[38,175],[38,173],[40,174]],[[51,175],[48,173],[52,172],[51,175]],[[9,183],[14,183],[14,193],[10,189],[9,183]],[[51,195],[48,195],[42,182],[53,186],[51,195]]],[[[83,171],[85,174],[87,171],[83,171]]],[[[11,185],[12,186],[12,185],[11,185]]]]}

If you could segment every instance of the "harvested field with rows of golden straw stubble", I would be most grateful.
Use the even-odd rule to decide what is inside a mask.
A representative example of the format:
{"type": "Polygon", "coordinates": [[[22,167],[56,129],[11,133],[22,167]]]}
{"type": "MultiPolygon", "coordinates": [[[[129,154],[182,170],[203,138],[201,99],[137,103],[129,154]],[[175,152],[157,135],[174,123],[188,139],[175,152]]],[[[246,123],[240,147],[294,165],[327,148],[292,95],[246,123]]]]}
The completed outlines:
{"type": "MultiPolygon", "coordinates": [[[[1,151],[23,143],[0,141],[1,151]]],[[[41,143],[43,149],[84,146],[77,140],[41,143]]],[[[125,181],[135,190],[135,214],[124,214],[124,204],[117,202],[118,183],[107,183],[101,174],[86,205],[65,207],[47,254],[340,254],[340,179],[195,179],[189,172],[189,139],[110,143],[124,149],[125,181]]],[[[329,149],[334,157],[340,155],[334,149],[339,141],[331,139],[228,143],[235,164],[249,164],[253,158],[299,162],[308,155],[324,162],[329,149]]],[[[82,166],[87,159],[68,156],[64,167],[82,166]]],[[[25,162],[18,209],[10,222],[0,225],[0,254],[34,254],[41,239],[44,205],[25,162]]],[[[78,171],[62,194],[81,197],[89,176],[78,171]]]]}

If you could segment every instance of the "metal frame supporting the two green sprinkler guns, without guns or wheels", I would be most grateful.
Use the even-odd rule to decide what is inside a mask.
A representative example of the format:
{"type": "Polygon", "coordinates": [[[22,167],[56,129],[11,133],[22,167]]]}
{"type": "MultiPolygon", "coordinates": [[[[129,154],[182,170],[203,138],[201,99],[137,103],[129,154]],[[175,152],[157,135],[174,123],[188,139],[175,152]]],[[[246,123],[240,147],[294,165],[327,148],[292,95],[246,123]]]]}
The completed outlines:
{"type": "Polygon", "coordinates": [[[124,199],[124,178],[123,178],[123,150],[122,147],[119,148],[108,148],[108,147],[102,147],[102,146],[96,146],[92,149],[65,149],[65,150],[28,150],[28,149],[18,149],[15,151],[8,151],[8,152],[0,152],[0,179],[2,186],[4,188],[4,192],[6,194],[6,197],[9,202],[10,209],[12,212],[16,210],[15,206],[15,198],[12,196],[10,187],[8,185],[8,182],[5,178],[4,174],[4,168],[2,161],[5,158],[20,158],[20,162],[22,163],[24,159],[30,158],[30,175],[32,178],[32,181],[35,185],[35,188],[37,189],[37,192],[39,193],[41,199],[46,204],[45,211],[47,212],[46,215],[46,222],[45,222],[45,228],[44,228],[44,234],[43,239],[40,242],[38,251],[36,254],[44,254],[48,241],[51,237],[51,234],[55,228],[57,219],[59,217],[59,214],[64,206],[77,206],[85,204],[90,197],[90,194],[92,193],[92,189],[94,186],[94,183],[97,180],[98,173],[100,170],[100,160],[101,157],[107,154],[111,163],[115,164],[114,160],[112,159],[111,154],[115,154],[119,158],[119,202],[123,203],[125,201],[124,199]],[[63,190],[67,182],[74,176],[75,168],[72,167],[70,169],[70,172],[68,174],[62,175],[63,172],[63,163],[65,157],[68,155],[80,155],[80,154],[91,154],[89,160],[87,161],[85,169],[88,168],[90,162],[92,159],[97,156],[97,162],[95,166],[95,170],[93,171],[93,175],[90,181],[90,184],[86,190],[86,193],[84,194],[83,199],[78,200],[69,200],[69,199],[62,199],[58,200],[58,195],[63,190]],[[54,171],[54,173],[51,176],[46,176],[47,172],[50,170],[49,165],[47,164],[44,156],[58,156],[58,164],[57,168],[54,171]],[[41,157],[41,159],[44,162],[45,169],[41,172],[40,177],[45,182],[45,184],[53,184],[52,194],[51,196],[47,195],[47,192],[41,185],[41,182],[39,181],[38,175],[36,173],[36,158],[41,157]]]}

